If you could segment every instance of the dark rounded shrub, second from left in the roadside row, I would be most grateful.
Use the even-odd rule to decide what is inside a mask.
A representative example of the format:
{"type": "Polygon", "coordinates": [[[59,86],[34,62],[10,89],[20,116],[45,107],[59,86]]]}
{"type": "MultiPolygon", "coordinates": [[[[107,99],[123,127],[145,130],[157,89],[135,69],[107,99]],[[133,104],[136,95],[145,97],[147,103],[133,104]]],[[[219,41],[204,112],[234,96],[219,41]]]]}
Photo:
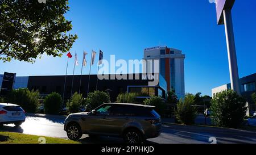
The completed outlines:
{"type": "Polygon", "coordinates": [[[59,114],[62,103],[61,95],[58,93],[51,93],[44,99],[44,112],[46,114],[59,114]]]}

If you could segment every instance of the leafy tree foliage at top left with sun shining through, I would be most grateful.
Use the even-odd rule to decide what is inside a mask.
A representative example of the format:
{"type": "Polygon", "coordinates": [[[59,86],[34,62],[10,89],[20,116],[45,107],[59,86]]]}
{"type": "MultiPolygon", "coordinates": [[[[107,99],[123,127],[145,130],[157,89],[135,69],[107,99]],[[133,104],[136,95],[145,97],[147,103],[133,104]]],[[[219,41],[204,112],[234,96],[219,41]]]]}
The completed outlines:
{"type": "Polygon", "coordinates": [[[34,62],[47,55],[57,57],[71,49],[77,35],[64,14],[67,0],[1,0],[0,1],[0,60],[34,62]],[[4,55],[4,56],[2,56],[4,55]]]}

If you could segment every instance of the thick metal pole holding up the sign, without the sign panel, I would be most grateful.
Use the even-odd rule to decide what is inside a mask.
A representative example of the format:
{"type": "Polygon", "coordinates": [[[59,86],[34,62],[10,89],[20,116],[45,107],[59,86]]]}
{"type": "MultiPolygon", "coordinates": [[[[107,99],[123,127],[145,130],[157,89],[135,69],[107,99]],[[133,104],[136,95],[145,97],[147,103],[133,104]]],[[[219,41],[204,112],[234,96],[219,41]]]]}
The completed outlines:
{"type": "Polygon", "coordinates": [[[236,91],[238,95],[241,95],[231,9],[224,10],[223,14],[226,32],[226,44],[228,47],[231,88],[232,90],[236,91]]]}

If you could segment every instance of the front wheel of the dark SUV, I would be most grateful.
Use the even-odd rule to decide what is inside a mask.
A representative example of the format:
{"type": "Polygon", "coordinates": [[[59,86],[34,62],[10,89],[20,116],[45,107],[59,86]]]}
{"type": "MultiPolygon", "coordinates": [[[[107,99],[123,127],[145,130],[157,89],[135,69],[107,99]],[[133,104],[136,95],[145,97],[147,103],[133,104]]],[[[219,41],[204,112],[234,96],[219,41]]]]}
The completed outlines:
{"type": "Polygon", "coordinates": [[[79,140],[82,137],[80,126],[75,123],[68,125],[67,136],[70,140],[79,140]]]}

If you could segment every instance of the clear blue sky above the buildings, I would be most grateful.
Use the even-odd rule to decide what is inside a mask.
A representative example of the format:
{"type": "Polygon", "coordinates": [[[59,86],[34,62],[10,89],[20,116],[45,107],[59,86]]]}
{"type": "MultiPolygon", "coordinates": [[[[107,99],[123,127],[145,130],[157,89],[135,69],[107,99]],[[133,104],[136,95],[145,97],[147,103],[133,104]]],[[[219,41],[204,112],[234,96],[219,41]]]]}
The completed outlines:
{"type": "MultiPolygon", "coordinates": [[[[71,52],[77,50],[80,63],[83,50],[101,49],[106,60],[110,55],[129,60],[141,59],[146,47],[167,45],[186,55],[186,92],[210,95],[213,87],[230,81],[224,26],[217,26],[215,5],[208,0],[73,0],[69,6],[66,17],[79,36],[71,52]]],[[[255,9],[256,1],[246,0],[236,1],[232,10],[240,77],[256,72],[255,9]]],[[[13,60],[0,62],[0,73],[62,75],[66,63],[66,56],[43,56],[35,64],[13,60]]],[[[92,73],[96,70],[95,65],[92,73]]],[[[80,72],[77,66],[75,73],[80,72]]],[[[72,73],[73,60],[68,69],[72,73]]]]}

